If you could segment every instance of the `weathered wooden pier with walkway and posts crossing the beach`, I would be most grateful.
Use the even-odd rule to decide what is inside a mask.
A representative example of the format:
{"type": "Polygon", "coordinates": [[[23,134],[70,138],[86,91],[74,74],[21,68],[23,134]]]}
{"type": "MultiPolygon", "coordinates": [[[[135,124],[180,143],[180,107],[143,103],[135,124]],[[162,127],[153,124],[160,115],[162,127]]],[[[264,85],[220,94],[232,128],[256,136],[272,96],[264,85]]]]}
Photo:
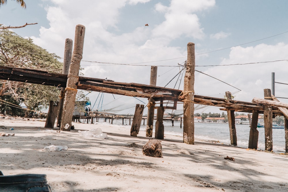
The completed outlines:
{"type": "MultiPolygon", "coordinates": [[[[194,144],[194,104],[203,104],[209,106],[220,107],[220,110],[227,111],[228,123],[230,128],[231,145],[237,145],[236,127],[234,112],[252,113],[251,130],[249,136],[249,148],[257,149],[258,131],[257,119],[258,114],[264,114],[265,122],[265,150],[272,151],[272,117],[275,115],[285,116],[285,149],[288,152],[288,104],[285,105],[274,96],[271,95],[269,89],[264,90],[263,100],[257,98],[253,102],[244,102],[231,99],[231,93],[226,92],[226,98],[214,98],[194,94],[194,72],[195,72],[195,48],[194,43],[187,44],[187,66],[184,78],[184,90],[176,90],[170,88],[158,87],[156,85],[157,69],[151,67],[150,85],[139,83],[122,83],[107,79],[97,79],[90,77],[81,77],[79,73],[79,64],[82,59],[83,43],[84,43],[85,27],[76,26],[74,51],[69,66],[69,72],[65,73],[48,73],[37,69],[22,69],[9,66],[0,66],[0,79],[10,81],[20,81],[27,83],[35,83],[41,85],[57,86],[64,89],[64,104],[62,111],[66,111],[61,116],[60,130],[69,131],[72,122],[73,106],[75,102],[75,93],[77,89],[87,91],[97,91],[110,94],[118,94],[133,97],[142,97],[149,100],[148,109],[150,114],[149,126],[146,132],[147,137],[152,137],[154,109],[157,109],[156,133],[155,138],[164,138],[163,111],[164,109],[177,109],[177,103],[183,102],[183,142],[194,144]],[[152,70],[154,72],[152,72],[152,70]],[[155,75],[156,71],[156,75],[155,75]],[[73,96],[72,96],[73,95],[73,96]],[[67,104],[69,100],[69,105],[67,104]],[[73,101],[74,100],[74,101],[73,101]],[[163,106],[163,102],[172,102],[173,106],[163,106]],[[157,106],[156,106],[157,105],[157,106]],[[70,108],[69,108],[70,107],[70,108]],[[72,108],[71,108],[72,107],[72,108]],[[68,109],[69,108],[69,109],[68,109]],[[72,111],[71,111],[72,110],[72,111]],[[153,114],[153,116],[152,116],[153,114]],[[152,126],[152,127],[151,127],[152,126]]],[[[143,106],[139,106],[135,110],[130,135],[137,136],[141,124],[143,114],[143,106]],[[140,123],[139,123],[140,122],[140,123]]],[[[49,114],[48,114],[49,116],[49,114]]],[[[113,119],[113,118],[112,118],[113,119]]],[[[55,119],[54,119],[55,120],[55,119]]]]}

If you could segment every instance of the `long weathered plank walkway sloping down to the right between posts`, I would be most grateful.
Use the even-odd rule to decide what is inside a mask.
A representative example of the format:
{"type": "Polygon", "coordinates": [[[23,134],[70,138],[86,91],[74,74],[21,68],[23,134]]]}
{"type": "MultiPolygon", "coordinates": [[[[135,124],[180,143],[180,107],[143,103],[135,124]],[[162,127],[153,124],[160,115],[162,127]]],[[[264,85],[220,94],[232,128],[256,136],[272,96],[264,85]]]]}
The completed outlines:
{"type": "MultiPolygon", "coordinates": [[[[65,74],[48,73],[47,71],[37,69],[23,69],[7,66],[0,66],[0,79],[58,87],[66,87],[67,84],[67,75],[65,74]]],[[[77,83],[77,89],[133,97],[153,98],[155,101],[167,100],[178,102],[181,102],[181,100],[178,99],[178,96],[182,92],[182,90],[163,88],[153,85],[122,83],[107,79],[81,76],[79,77],[79,82],[77,83]]],[[[214,98],[200,95],[194,95],[194,103],[222,107],[223,109],[221,110],[229,109],[248,113],[252,113],[253,110],[259,111],[259,113],[264,111],[264,104],[237,100],[225,100],[224,98],[214,98]]],[[[279,110],[276,109],[276,111],[279,110]]]]}

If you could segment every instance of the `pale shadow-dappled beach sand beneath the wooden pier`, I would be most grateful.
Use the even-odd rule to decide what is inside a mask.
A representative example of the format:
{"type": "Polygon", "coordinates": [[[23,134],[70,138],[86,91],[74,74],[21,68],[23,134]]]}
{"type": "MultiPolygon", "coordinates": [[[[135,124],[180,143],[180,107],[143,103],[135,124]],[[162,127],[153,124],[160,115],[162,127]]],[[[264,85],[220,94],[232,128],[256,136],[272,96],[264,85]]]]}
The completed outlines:
{"type": "Polygon", "coordinates": [[[179,136],[165,135],[163,157],[156,158],[142,153],[149,140],[144,131],[131,137],[129,126],[72,124],[75,130],[58,133],[44,128],[44,120],[0,119],[0,132],[15,134],[0,137],[0,170],[4,175],[46,174],[52,191],[59,192],[288,191],[285,154],[201,140],[187,145],[179,136]],[[94,128],[108,138],[79,136],[78,130],[94,128]],[[43,150],[50,145],[68,150],[43,150]]]}

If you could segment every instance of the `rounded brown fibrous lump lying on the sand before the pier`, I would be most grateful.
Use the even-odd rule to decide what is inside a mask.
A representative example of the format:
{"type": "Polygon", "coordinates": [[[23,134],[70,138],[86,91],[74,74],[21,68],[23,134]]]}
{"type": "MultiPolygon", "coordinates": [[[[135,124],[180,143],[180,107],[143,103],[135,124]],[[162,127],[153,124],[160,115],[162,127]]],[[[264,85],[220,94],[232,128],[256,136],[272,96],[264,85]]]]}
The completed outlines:
{"type": "Polygon", "coordinates": [[[142,147],[144,155],[150,157],[162,157],[162,145],[161,142],[155,139],[147,141],[142,147]]]}

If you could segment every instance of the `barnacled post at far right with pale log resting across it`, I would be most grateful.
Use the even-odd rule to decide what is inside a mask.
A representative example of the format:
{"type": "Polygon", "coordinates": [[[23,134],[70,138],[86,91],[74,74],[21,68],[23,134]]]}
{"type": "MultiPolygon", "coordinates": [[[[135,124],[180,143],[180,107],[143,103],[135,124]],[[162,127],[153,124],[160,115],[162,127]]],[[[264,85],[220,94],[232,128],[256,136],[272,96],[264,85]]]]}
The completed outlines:
{"type": "MultiPolygon", "coordinates": [[[[271,90],[264,89],[264,99],[272,100],[271,90]]],[[[264,109],[264,130],[265,130],[265,150],[273,150],[273,140],[272,140],[272,106],[265,105],[264,109]]]]}

